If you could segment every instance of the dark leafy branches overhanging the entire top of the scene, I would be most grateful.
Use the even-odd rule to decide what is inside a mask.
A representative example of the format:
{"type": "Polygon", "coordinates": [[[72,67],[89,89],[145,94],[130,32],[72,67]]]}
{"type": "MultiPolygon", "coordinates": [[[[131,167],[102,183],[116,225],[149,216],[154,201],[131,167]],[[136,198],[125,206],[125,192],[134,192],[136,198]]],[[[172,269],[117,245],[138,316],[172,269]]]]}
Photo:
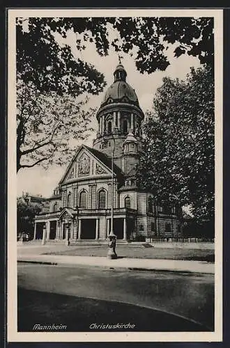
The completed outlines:
{"type": "Polygon", "coordinates": [[[167,49],[174,45],[175,56],[197,56],[213,65],[214,38],[211,17],[30,17],[17,19],[17,73],[38,89],[79,95],[97,94],[105,86],[103,75],[92,65],[75,58],[69,45],[57,37],[76,34],[76,49],[93,42],[100,56],[125,52],[134,56],[143,73],[165,70],[167,49]],[[109,35],[115,31],[114,37],[109,35]]]}

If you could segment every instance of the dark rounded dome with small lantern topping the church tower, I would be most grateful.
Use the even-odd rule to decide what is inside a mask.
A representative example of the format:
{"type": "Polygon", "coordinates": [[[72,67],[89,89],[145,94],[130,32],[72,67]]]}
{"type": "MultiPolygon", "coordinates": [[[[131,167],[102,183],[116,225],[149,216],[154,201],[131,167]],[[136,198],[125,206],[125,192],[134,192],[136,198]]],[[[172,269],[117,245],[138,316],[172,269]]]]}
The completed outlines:
{"type": "Polygon", "coordinates": [[[107,89],[102,104],[106,102],[124,102],[138,104],[135,90],[127,84],[127,73],[123,65],[119,64],[114,71],[114,83],[107,89]]]}

